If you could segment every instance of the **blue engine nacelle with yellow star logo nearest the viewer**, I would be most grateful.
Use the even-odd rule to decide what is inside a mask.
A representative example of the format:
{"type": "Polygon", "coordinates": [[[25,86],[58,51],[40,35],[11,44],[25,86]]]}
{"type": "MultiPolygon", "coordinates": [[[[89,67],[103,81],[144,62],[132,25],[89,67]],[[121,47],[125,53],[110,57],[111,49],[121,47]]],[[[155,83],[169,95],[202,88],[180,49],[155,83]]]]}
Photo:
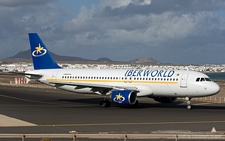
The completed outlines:
{"type": "Polygon", "coordinates": [[[137,93],[132,90],[114,90],[111,94],[112,102],[123,105],[134,105],[136,99],[137,93]]]}

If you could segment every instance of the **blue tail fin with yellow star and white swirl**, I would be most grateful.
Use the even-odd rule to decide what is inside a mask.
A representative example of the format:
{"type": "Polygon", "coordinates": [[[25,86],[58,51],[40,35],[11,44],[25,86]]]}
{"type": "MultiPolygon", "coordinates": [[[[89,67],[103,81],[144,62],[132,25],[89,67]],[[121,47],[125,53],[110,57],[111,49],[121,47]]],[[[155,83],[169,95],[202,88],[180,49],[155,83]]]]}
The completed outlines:
{"type": "Polygon", "coordinates": [[[29,40],[35,70],[61,68],[49,54],[48,49],[37,33],[29,33],[29,40]]]}

